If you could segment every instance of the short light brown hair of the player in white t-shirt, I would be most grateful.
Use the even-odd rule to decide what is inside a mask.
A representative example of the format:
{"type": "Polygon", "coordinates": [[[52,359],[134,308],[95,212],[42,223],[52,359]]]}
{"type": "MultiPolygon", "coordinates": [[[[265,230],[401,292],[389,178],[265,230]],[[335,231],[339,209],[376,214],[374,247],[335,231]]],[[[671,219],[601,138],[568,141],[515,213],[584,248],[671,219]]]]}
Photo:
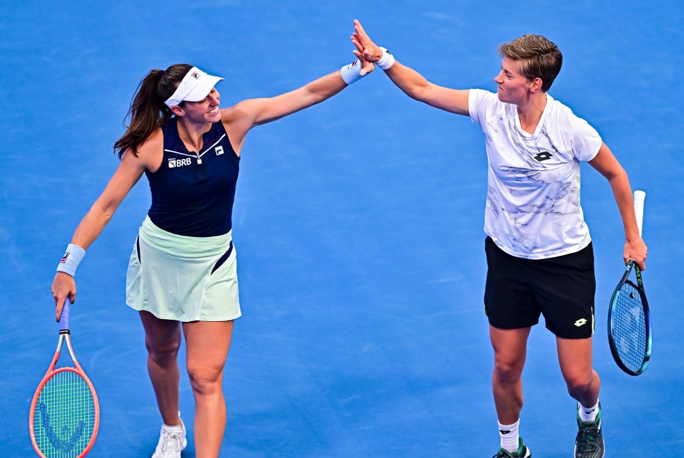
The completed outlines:
{"type": "Polygon", "coordinates": [[[560,49],[542,35],[528,33],[516,38],[512,42],[499,44],[498,53],[501,56],[517,60],[520,72],[527,79],[542,79],[542,90],[547,92],[555,77],[560,73],[563,55],[560,49]]]}

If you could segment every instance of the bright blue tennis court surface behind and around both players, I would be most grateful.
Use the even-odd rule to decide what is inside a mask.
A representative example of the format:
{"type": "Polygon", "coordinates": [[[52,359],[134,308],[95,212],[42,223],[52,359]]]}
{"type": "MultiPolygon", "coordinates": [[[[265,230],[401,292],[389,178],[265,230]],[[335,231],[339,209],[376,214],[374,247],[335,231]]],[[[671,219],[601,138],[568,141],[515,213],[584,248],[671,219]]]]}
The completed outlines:
{"type": "MultiPolygon", "coordinates": [[[[681,3],[27,0],[0,6],[1,456],[33,455],[29,405],[57,340],[54,268],[117,167],[111,147],[142,76],[192,63],[225,77],[222,106],[278,95],[353,60],[355,18],[453,88],[496,90],[500,42],[532,32],[559,45],[551,95],[596,127],[647,193],[653,359],[629,377],[605,336],[624,233],[608,182],[583,165],[606,456],[681,454],[681,3]]],[[[234,208],[243,318],[225,373],[222,457],[494,454],[486,165],[478,126],[409,99],[380,70],[247,136],[234,208]]],[[[92,457],[149,457],[158,438],[142,326],[124,305],[148,206],[143,178],[76,275],[72,338],[101,403],[92,457]]],[[[523,384],[521,434],[534,456],[570,456],[575,404],[543,324],[523,384]]],[[[193,410],[182,373],[190,429],[193,410]]],[[[188,439],[185,458],[195,456],[188,439]]]]}

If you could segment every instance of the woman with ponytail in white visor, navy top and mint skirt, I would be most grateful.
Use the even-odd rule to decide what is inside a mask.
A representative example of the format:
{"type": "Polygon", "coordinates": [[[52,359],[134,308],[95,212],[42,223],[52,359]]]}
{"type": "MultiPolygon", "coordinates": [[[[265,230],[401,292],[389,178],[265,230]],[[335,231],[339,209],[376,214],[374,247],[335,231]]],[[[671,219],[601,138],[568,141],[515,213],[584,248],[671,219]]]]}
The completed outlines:
{"type": "Polygon", "coordinates": [[[186,339],[195,395],[195,456],[217,457],[226,427],[223,368],[241,315],[231,212],[247,132],[336,95],[372,72],[364,58],[302,88],[219,108],[222,78],[192,65],[154,69],[138,86],[130,125],[114,145],[120,165],[81,220],[52,284],[59,318],[76,300],[74,273],[129,190],[147,176],[152,205],[127,273],[126,302],[140,313],[147,370],[163,426],[153,457],[180,457],[177,354],[186,339]]]}

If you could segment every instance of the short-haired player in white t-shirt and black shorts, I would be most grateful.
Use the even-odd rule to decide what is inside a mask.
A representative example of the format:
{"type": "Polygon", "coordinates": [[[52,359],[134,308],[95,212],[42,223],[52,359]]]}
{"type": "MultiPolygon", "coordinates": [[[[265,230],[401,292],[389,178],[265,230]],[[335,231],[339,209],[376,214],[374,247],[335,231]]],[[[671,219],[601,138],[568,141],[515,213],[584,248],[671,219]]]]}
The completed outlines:
{"type": "MultiPolygon", "coordinates": [[[[625,231],[624,261],[644,268],[646,245],[626,172],[599,133],[548,95],[562,54],[541,35],[501,44],[496,93],[430,83],[377,47],[358,21],[352,42],[409,97],[466,115],[485,133],[489,163],[485,209],[485,311],[494,347],[492,385],[500,448],[495,457],[528,458],[519,436],[521,374],[530,328],[544,314],[558,361],[577,401],[575,457],[601,458],[601,381],[592,367],[594,253],[580,208],[580,161],[610,183],[625,231]]],[[[468,455],[465,453],[464,455],[468,455]]]]}

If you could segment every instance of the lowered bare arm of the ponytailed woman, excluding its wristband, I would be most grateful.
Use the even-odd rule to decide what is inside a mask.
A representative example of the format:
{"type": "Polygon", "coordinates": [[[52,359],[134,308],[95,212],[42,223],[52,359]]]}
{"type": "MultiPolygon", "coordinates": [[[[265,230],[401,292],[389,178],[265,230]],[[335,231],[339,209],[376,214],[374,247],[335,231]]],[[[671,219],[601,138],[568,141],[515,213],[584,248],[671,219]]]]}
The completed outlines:
{"type": "MultiPolygon", "coordinates": [[[[159,137],[161,139],[161,131],[159,131],[159,137]]],[[[119,204],[121,204],[124,197],[126,197],[142,176],[142,172],[145,170],[144,160],[149,157],[149,155],[145,154],[145,149],[149,149],[152,143],[154,141],[143,145],[138,156],[133,156],[131,152],[124,154],[118,169],[113,174],[106,188],[95,203],[92,204],[86,216],[81,220],[79,227],[76,228],[71,241],[73,245],[87,250],[101,234],[119,204]]],[[[159,152],[161,152],[161,144],[158,147],[160,148],[159,152]]],[[[57,272],[52,282],[52,295],[56,306],[55,318],[59,320],[65,299],[69,297],[71,302],[76,300],[76,282],[74,277],[65,272],[57,272]]]]}

